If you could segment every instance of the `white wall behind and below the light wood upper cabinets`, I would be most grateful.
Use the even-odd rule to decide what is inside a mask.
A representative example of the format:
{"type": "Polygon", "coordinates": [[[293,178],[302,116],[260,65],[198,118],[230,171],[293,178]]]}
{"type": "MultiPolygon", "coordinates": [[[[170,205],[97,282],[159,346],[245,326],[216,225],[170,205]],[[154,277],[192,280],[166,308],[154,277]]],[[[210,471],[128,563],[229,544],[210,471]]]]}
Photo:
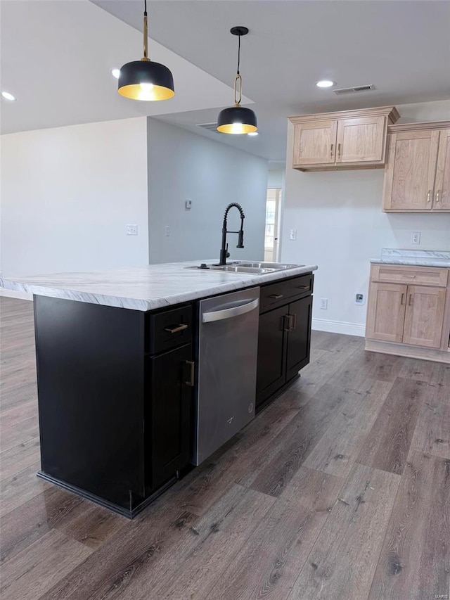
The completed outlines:
{"type": "MultiPolygon", "coordinates": [[[[397,108],[400,122],[450,119],[450,101],[397,108]]],[[[281,259],[319,265],[313,328],[364,335],[366,305],[355,305],[354,293],[368,291],[370,258],[383,247],[450,250],[450,213],[381,212],[384,170],[303,173],[292,168],[292,144],[289,123],[281,259]],[[420,245],[411,245],[412,231],[421,232],[420,245]],[[320,298],[328,298],[327,310],[320,298]]]]}

